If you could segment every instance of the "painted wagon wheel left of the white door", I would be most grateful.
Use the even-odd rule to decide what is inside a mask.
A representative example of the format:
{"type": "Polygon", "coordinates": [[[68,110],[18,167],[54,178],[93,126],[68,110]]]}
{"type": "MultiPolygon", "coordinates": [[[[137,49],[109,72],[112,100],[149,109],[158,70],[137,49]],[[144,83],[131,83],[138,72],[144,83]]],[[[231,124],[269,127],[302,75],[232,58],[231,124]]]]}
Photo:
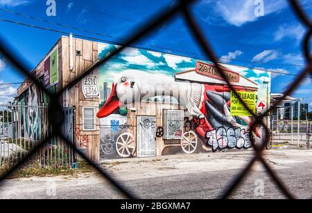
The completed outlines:
{"type": "Polygon", "coordinates": [[[122,133],[116,140],[116,151],[122,158],[135,154],[135,139],[130,133],[122,133]]]}

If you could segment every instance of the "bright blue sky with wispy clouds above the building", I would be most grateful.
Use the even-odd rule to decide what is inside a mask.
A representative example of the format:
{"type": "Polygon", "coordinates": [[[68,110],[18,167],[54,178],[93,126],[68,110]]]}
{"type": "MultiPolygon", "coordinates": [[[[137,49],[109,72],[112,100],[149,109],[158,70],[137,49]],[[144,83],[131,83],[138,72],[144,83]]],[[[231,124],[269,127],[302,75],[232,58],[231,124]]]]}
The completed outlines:
{"type": "MultiPolygon", "coordinates": [[[[255,1],[202,0],[192,7],[192,12],[223,62],[281,73],[299,73],[302,69],[300,65],[305,64],[301,54],[301,40],[305,32],[303,26],[297,21],[286,0],[263,1],[263,16],[255,15],[254,10],[257,8],[254,5],[255,1]],[[290,66],[291,64],[297,66],[290,66]]],[[[47,17],[46,0],[0,0],[2,9],[101,33],[101,36],[47,24],[2,10],[0,15],[2,19],[122,42],[127,35],[155,15],[155,12],[168,8],[174,2],[56,0],[56,17],[47,17]]],[[[312,18],[311,1],[300,2],[312,18]]],[[[61,35],[4,21],[0,21],[0,29],[1,35],[28,62],[30,70],[40,62],[61,35]]],[[[150,33],[135,46],[187,57],[205,58],[193,37],[189,35],[181,15],[177,15],[162,28],[150,33]]],[[[295,77],[291,75],[272,74],[272,93],[281,93],[294,79],[295,77]]],[[[18,86],[3,83],[23,80],[24,77],[17,75],[6,59],[0,55],[0,102],[14,97],[18,86]]],[[[311,83],[311,80],[306,79],[294,95],[297,98],[304,98],[304,102],[311,104],[312,107],[311,83]]]]}

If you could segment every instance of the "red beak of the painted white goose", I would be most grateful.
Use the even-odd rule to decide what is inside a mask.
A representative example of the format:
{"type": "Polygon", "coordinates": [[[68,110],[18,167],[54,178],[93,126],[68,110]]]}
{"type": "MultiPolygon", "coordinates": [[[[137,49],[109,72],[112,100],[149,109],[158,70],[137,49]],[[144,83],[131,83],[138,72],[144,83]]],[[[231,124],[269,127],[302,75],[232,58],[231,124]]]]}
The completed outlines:
{"type": "Polygon", "coordinates": [[[113,83],[110,98],[108,98],[102,109],[98,111],[96,117],[105,118],[108,115],[112,115],[112,113],[120,109],[121,106],[123,106],[123,103],[119,101],[116,93],[116,85],[113,83]]]}

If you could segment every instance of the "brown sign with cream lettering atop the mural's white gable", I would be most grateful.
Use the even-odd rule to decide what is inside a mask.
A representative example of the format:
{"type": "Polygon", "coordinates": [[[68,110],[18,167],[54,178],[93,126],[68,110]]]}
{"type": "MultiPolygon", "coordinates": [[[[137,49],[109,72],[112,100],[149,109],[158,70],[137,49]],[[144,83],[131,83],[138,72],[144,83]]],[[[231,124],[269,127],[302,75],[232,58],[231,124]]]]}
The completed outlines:
{"type": "MultiPolygon", "coordinates": [[[[229,82],[239,83],[240,75],[239,73],[235,73],[230,71],[229,69],[221,66],[222,70],[224,71],[227,80],[229,82]]],[[[213,77],[218,80],[224,80],[221,74],[217,71],[216,66],[213,64],[208,64],[205,62],[196,62],[196,73],[200,75],[206,75],[208,77],[213,77]]]]}

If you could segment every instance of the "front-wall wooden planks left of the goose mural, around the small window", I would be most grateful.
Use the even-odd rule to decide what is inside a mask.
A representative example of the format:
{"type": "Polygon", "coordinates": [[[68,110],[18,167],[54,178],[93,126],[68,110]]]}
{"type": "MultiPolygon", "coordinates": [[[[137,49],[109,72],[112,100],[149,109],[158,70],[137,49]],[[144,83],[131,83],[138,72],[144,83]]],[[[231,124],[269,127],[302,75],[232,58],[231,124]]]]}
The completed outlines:
{"type": "MultiPolygon", "coordinates": [[[[98,43],[73,38],[73,71],[69,70],[69,37],[62,37],[62,86],[66,86],[76,77],[82,75],[98,59],[98,43]],[[76,55],[76,50],[80,55],[76,55]]],[[[93,71],[92,75],[98,75],[98,71],[93,71]]],[[[83,107],[95,107],[98,112],[99,98],[85,99],[81,82],[69,90],[69,106],[76,107],[76,142],[87,148],[87,155],[92,160],[99,160],[100,157],[100,121],[96,118],[96,131],[83,131],[83,107]]],[[[66,93],[63,93],[62,102],[66,104],[66,93]]]]}

